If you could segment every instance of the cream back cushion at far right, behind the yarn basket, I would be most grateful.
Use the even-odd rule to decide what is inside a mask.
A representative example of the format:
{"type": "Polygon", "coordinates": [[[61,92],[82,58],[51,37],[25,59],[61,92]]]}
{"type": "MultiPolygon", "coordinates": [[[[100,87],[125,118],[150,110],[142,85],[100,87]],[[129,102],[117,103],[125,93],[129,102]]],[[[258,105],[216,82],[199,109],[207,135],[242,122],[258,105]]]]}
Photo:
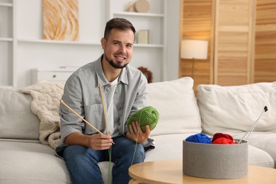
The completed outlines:
{"type": "Polygon", "coordinates": [[[276,133],[276,82],[241,86],[197,86],[202,130],[238,134],[247,132],[263,112],[255,132],[276,133]]]}

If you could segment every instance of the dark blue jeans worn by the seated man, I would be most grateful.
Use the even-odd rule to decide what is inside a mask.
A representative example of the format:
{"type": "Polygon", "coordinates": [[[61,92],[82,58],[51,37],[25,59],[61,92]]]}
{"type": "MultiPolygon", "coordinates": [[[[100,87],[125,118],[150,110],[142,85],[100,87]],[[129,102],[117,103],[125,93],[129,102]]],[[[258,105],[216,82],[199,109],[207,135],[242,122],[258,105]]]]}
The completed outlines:
{"type": "MultiPolygon", "coordinates": [[[[111,147],[111,161],[115,163],[112,170],[113,184],[128,183],[136,143],[127,137],[114,137],[115,144],[111,147]]],[[[109,161],[108,150],[93,150],[85,146],[71,145],[64,149],[63,157],[67,163],[72,183],[103,183],[98,162],[109,161]]],[[[145,154],[142,144],[137,144],[134,163],[144,161],[145,154]]]]}

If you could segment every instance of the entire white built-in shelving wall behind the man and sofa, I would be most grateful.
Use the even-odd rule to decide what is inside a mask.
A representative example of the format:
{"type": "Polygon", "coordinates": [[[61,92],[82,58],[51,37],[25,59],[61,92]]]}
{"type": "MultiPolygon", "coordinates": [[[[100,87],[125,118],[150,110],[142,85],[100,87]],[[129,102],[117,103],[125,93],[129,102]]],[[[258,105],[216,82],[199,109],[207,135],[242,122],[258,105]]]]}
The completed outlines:
{"type": "Polygon", "coordinates": [[[167,51],[178,49],[178,45],[167,46],[167,6],[172,6],[168,0],[148,0],[151,8],[147,13],[125,11],[127,3],[136,0],[79,0],[76,42],[42,39],[42,1],[0,0],[0,87],[33,84],[34,69],[51,72],[61,66],[79,67],[96,60],[103,53],[100,38],[105,23],[113,17],[127,18],[137,32],[150,30],[150,44],[134,43],[131,64],[152,71],[154,82],[166,80],[167,51]]]}

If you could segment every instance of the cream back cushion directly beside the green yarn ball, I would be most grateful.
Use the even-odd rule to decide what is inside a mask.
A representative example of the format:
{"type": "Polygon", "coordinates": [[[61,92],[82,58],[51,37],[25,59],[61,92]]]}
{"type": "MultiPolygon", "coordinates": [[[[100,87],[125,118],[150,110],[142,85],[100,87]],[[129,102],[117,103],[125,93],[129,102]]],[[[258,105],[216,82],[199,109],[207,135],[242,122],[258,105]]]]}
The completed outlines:
{"type": "Polygon", "coordinates": [[[192,86],[190,77],[148,85],[148,105],[159,111],[159,122],[151,136],[202,131],[192,86]]]}

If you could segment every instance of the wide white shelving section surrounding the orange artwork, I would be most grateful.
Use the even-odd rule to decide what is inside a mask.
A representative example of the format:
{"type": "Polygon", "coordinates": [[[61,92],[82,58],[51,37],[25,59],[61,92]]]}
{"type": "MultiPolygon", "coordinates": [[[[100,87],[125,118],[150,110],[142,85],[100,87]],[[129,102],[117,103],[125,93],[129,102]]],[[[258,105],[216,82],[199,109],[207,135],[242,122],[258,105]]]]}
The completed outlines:
{"type": "Polygon", "coordinates": [[[74,72],[71,68],[92,62],[102,54],[100,38],[105,17],[99,7],[105,7],[105,1],[79,0],[79,41],[42,39],[42,2],[17,1],[20,15],[16,20],[18,86],[28,86],[41,79],[66,80],[74,72]],[[30,7],[33,7],[32,11],[30,7]]]}

